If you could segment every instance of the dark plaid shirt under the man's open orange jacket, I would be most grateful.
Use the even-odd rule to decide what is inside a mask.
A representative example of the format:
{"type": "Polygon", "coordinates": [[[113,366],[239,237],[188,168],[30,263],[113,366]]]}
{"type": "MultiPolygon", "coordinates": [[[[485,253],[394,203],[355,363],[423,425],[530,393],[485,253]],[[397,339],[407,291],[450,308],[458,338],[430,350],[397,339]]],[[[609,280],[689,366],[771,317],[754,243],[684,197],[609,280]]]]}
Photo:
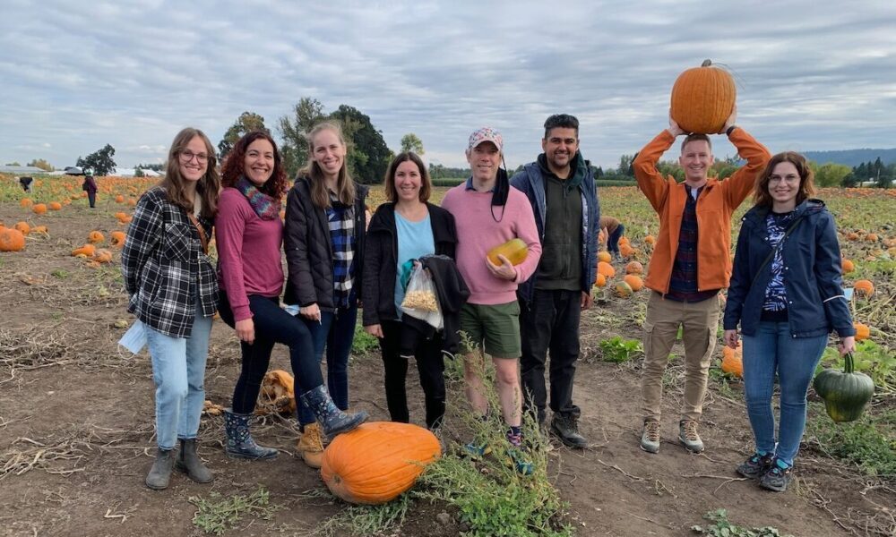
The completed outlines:
{"type": "MultiPolygon", "coordinates": [[[[686,184],[682,188],[690,190],[686,184]]],[[[678,251],[672,264],[672,278],[669,280],[669,292],[666,298],[677,302],[701,302],[719,293],[719,289],[697,290],[697,199],[703,187],[697,189],[696,195],[687,192],[685,212],[681,218],[681,231],[678,234],[678,251]]],[[[715,232],[715,230],[713,230],[715,232]]]]}

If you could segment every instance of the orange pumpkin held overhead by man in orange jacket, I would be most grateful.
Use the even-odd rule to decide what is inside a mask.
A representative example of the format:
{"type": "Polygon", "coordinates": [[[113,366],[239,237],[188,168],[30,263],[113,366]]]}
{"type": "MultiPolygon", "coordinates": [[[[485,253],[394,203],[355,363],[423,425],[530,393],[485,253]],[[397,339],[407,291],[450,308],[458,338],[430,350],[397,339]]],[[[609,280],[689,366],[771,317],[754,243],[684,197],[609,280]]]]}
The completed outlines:
{"type": "Polygon", "coordinates": [[[685,132],[721,132],[734,110],[737,87],[731,74],[704,60],[678,75],[672,86],[669,113],[685,132]]]}

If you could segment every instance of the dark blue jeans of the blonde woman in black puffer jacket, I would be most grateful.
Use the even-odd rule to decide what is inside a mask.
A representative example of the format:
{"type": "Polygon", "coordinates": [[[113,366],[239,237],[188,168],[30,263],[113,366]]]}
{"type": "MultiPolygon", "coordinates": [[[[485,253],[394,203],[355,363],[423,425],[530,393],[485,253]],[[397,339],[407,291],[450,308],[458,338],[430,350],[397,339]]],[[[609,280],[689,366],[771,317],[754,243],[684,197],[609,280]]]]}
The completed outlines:
{"type": "MultiPolygon", "coordinates": [[[[355,302],[352,300],[351,302],[355,302]]],[[[307,320],[308,330],[314,341],[314,355],[317,363],[327,352],[327,390],[333,403],[342,410],[349,408],[349,355],[355,340],[355,324],[358,321],[358,306],[339,308],[335,312],[322,311],[321,321],[307,320]]],[[[302,425],[314,422],[314,413],[302,401],[297,401],[298,422],[302,425]]]]}

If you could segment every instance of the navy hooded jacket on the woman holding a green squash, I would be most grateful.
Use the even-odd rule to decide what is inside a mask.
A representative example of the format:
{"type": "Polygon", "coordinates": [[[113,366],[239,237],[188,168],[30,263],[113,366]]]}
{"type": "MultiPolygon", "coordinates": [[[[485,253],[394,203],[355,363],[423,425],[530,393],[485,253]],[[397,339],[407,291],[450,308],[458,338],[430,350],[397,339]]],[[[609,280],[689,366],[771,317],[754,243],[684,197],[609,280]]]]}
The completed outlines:
{"type": "MultiPolygon", "coordinates": [[[[769,210],[747,211],[737,237],[724,326],[733,330],[739,322],[746,336],[756,333],[771,279],[771,261],[762,266],[772,250],[766,226],[769,210]]],[[[817,337],[833,329],[840,337],[855,336],[843,294],[834,219],[822,200],[805,200],[795,210],[795,217],[802,221],[781,244],[790,335],[817,337]]]]}

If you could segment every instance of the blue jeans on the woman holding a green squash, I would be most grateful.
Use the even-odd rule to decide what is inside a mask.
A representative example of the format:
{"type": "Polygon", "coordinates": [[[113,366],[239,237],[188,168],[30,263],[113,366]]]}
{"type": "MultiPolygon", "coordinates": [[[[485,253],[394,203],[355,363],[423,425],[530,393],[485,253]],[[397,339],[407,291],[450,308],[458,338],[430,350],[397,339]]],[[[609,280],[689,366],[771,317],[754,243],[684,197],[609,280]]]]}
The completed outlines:
{"type": "Polygon", "coordinates": [[[762,321],[755,336],[744,336],[746,413],[757,451],[775,454],[793,465],[806,429],[806,391],[827,343],[827,335],[791,336],[787,322],[762,321]],[[781,394],[777,450],[771,410],[776,372],[781,394]]]}

